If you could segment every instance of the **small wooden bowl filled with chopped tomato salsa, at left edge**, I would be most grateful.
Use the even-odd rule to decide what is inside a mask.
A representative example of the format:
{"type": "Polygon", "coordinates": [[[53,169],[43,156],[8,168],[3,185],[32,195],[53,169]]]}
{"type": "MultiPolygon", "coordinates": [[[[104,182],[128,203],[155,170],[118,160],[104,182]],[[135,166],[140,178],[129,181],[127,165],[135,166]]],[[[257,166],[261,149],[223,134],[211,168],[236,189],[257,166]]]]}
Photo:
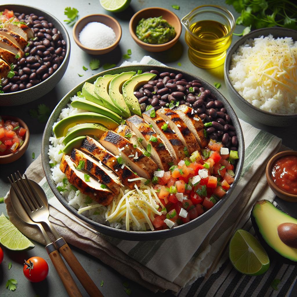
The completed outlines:
{"type": "Polygon", "coordinates": [[[24,121],[15,116],[0,116],[0,164],[22,157],[29,138],[29,129],[24,121]]]}

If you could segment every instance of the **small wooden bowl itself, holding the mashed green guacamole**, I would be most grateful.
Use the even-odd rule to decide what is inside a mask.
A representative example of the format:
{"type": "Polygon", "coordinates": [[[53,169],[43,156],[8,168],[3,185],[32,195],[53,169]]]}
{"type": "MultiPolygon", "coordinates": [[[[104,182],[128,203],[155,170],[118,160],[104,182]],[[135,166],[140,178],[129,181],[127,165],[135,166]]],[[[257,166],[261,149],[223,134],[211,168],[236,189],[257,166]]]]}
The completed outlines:
{"type": "Polygon", "coordinates": [[[161,7],[149,7],[139,10],[135,13],[135,15],[132,16],[129,23],[129,31],[134,41],[141,48],[149,52],[162,52],[171,48],[178,41],[179,37],[181,36],[181,21],[175,13],[168,9],[161,7]],[[142,18],[157,18],[159,16],[162,16],[164,20],[167,20],[167,22],[174,27],[176,36],[173,38],[173,40],[170,40],[169,42],[163,44],[149,44],[138,39],[138,37],[136,36],[136,26],[138,25],[139,21],[142,18]]]}

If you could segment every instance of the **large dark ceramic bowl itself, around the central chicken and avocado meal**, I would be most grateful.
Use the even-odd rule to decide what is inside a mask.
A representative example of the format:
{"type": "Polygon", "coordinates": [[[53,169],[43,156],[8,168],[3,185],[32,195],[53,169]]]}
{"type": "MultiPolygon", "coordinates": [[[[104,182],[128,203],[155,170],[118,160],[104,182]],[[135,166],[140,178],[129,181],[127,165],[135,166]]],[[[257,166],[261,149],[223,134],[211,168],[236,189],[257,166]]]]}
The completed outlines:
{"type": "Polygon", "coordinates": [[[41,156],[42,156],[42,167],[45,172],[45,177],[48,181],[48,184],[50,185],[50,188],[52,189],[53,193],[55,196],[59,199],[59,201],[64,205],[65,208],[67,208],[72,214],[74,214],[78,219],[83,221],[84,224],[87,224],[89,227],[107,234],[109,236],[113,236],[116,238],[121,238],[121,239],[126,239],[126,240],[138,240],[138,241],[145,241],[145,240],[156,240],[156,239],[161,239],[161,238],[169,238],[173,237],[182,233],[186,233],[202,223],[204,223],[206,220],[211,218],[218,210],[219,208],[222,207],[222,205],[225,203],[225,201],[229,198],[231,192],[233,191],[239,176],[241,174],[242,166],[243,166],[243,161],[244,161],[244,138],[241,130],[240,123],[238,121],[238,118],[231,107],[230,103],[227,101],[227,99],[211,84],[207,83],[205,80],[199,78],[198,76],[192,75],[188,72],[182,71],[181,69],[176,69],[172,67],[164,67],[164,66],[154,66],[154,65],[130,65],[130,66],[123,66],[123,67],[117,67],[114,69],[106,70],[101,73],[98,73],[97,75],[94,75],[90,77],[89,79],[83,81],[80,83],[78,86],[76,86],[74,89],[72,89],[56,106],[56,108],[53,110],[53,113],[51,114],[48,123],[46,124],[45,127],[45,132],[43,134],[42,138],[42,149],[41,149],[41,156]],[[59,193],[59,191],[56,189],[56,184],[54,183],[52,179],[52,174],[50,171],[50,166],[49,166],[49,157],[48,157],[48,146],[50,145],[49,138],[52,136],[52,127],[53,124],[56,122],[58,119],[62,108],[66,106],[67,103],[70,101],[70,97],[73,97],[74,95],[77,94],[78,91],[81,91],[82,86],[85,82],[89,83],[94,83],[94,81],[102,75],[105,74],[117,74],[125,71],[137,71],[137,70],[142,70],[143,72],[149,71],[152,69],[156,69],[159,72],[175,72],[175,73],[182,73],[184,75],[184,78],[188,79],[189,81],[197,79],[200,80],[202,83],[202,86],[204,88],[209,89],[213,94],[216,95],[216,97],[221,100],[224,103],[224,106],[230,115],[233,126],[236,129],[236,134],[238,138],[238,156],[239,160],[236,166],[235,170],[235,181],[231,185],[230,189],[228,190],[227,194],[219,200],[217,204],[215,204],[210,210],[206,211],[204,214],[202,214],[200,217],[184,224],[177,226],[172,229],[167,229],[167,230],[158,230],[158,231],[148,231],[148,232],[142,232],[142,231],[126,231],[126,230],[120,230],[116,228],[111,228],[102,224],[99,224],[97,222],[94,222],[87,217],[78,214],[77,210],[70,206],[65,198],[59,193]]]}

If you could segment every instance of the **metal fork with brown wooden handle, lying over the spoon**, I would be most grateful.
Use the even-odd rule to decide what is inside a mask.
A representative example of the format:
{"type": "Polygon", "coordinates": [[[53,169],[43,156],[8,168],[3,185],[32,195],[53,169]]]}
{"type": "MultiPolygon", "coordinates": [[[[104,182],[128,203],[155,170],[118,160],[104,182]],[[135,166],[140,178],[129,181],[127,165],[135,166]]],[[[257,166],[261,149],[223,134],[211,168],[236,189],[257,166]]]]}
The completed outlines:
{"type": "MultiPolygon", "coordinates": [[[[11,177],[12,177],[12,180],[14,181],[13,176],[11,177]]],[[[27,178],[26,174],[24,174],[25,178],[23,178],[20,175],[20,172],[18,171],[18,176],[15,173],[15,177],[16,177],[16,181],[14,183],[10,181],[10,183],[14,190],[15,190],[15,185],[17,185],[18,188],[20,189],[20,192],[22,193],[22,197],[19,197],[17,192],[16,191],[15,192],[18,195],[18,198],[21,201],[22,205],[24,206],[30,219],[35,223],[41,223],[42,225],[45,224],[48,226],[48,228],[50,229],[51,233],[55,238],[54,244],[59,249],[59,252],[63,255],[64,259],[66,260],[66,262],[68,263],[68,265],[70,266],[70,268],[72,269],[72,271],[74,272],[74,274],[76,275],[80,283],[88,292],[89,296],[103,297],[102,293],[99,291],[98,287],[89,277],[89,275],[86,273],[85,269],[80,264],[78,259],[75,257],[75,255],[71,251],[70,247],[68,246],[64,238],[59,235],[59,233],[53,228],[51,222],[48,220],[49,211],[48,211],[48,204],[45,203],[45,201],[47,202],[47,198],[44,191],[42,191],[42,195],[44,195],[45,199],[42,199],[40,195],[38,195],[37,192],[35,191],[31,182],[29,182],[29,179],[27,178]]],[[[33,184],[35,184],[34,181],[32,182],[33,184]]]]}

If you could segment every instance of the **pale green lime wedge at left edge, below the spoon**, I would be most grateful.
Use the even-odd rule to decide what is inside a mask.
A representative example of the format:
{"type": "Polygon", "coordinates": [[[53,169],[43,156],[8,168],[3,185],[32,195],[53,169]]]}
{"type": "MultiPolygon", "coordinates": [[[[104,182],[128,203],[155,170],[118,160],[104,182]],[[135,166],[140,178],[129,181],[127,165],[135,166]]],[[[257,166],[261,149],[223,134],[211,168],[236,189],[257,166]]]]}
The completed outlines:
{"type": "Polygon", "coordinates": [[[13,251],[33,249],[35,246],[4,216],[0,216],[0,243],[13,251]]]}

